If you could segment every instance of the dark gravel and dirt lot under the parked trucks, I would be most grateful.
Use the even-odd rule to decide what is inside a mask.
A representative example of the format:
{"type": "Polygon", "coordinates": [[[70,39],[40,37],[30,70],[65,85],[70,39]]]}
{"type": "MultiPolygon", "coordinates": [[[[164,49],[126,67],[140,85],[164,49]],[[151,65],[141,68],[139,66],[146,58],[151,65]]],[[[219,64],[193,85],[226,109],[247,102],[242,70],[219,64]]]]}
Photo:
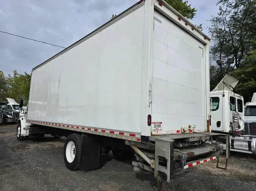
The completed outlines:
{"type": "MultiPolygon", "coordinates": [[[[131,162],[118,162],[111,153],[102,158],[98,169],[69,171],[63,160],[64,142],[65,137],[52,136],[18,141],[15,125],[0,126],[0,190],[157,190],[152,174],[135,174],[131,162]]],[[[170,190],[255,191],[256,157],[231,154],[227,171],[216,169],[216,161],[207,162],[176,173],[170,190]]]]}

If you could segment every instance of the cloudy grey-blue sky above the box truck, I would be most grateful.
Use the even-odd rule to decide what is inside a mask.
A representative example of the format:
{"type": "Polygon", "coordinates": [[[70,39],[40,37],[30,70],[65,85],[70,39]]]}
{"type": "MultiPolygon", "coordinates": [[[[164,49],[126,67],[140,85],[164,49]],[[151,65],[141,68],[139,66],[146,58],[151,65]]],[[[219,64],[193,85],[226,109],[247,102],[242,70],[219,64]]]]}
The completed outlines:
{"type": "MultiPolygon", "coordinates": [[[[68,47],[138,0],[0,0],[0,31],[68,47]]],[[[197,9],[192,23],[203,24],[217,15],[217,0],[188,0],[197,9]]],[[[0,71],[23,74],[63,48],[0,32],[0,71]]]]}

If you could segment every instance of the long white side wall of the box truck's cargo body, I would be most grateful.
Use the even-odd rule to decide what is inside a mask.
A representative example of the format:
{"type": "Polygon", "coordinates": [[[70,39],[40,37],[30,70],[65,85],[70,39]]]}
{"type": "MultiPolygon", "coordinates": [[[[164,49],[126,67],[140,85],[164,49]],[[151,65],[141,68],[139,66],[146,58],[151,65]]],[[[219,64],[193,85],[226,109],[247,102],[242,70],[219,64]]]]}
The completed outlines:
{"type": "Polygon", "coordinates": [[[28,120],[141,132],[143,29],[141,6],[33,71],[28,120]]]}

